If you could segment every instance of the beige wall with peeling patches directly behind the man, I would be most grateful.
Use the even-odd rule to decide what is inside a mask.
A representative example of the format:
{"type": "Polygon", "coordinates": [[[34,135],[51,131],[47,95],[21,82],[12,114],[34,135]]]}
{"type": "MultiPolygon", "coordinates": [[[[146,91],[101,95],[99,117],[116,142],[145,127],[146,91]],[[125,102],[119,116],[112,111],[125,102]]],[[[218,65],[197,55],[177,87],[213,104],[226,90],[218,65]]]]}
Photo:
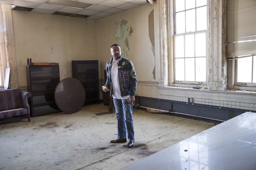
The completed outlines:
{"type": "MultiPolygon", "coordinates": [[[[110,59],[110,46],[113,43],[124,44],[124,42],[115,39],[114,33],[120,22],[126,20],[127,26],[132,27],[133,31],[129,42],[130,53],[127,58],[135,66],[138,81],[157,81],[158,59],[157,57],[155,59],[152,52],[152,45],[148,33],[148,15],[153,9],[156,12],[157,10],[155,8],[156,3],[154,5],[145,4],[131,10],[98,19],[100,78],[104,78],[103,70],[105,70],[106,62],[110,59]],[[155,60],[156,80],[153,79],[152,74],[155,60]]],[[[155,44],[157,44],[156,40],[155,44]]]]}

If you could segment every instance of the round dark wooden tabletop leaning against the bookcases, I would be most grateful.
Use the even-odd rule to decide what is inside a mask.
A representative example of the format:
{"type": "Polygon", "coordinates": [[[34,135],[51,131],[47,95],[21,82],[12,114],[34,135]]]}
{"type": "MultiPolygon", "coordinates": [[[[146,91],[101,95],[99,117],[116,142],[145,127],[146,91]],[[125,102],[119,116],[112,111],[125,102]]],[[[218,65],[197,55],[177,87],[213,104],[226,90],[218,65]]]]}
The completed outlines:
{"type": "Polygon", "coordinates": [[[54,98],[62,112],[76,113],[84,106],[84,86],[75,78],[65,78],[55,88],[54,98]]]}

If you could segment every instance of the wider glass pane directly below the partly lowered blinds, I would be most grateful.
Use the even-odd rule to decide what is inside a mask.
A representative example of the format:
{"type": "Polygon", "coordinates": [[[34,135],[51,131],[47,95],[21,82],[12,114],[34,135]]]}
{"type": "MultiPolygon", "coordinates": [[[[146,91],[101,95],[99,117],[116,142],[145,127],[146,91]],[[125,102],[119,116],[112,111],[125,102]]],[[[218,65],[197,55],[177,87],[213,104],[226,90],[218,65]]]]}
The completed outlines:
{"type": "Polygon", "coordinates": [[[252,82],[252,57],[237,59],[237,82],[252,82]]]}

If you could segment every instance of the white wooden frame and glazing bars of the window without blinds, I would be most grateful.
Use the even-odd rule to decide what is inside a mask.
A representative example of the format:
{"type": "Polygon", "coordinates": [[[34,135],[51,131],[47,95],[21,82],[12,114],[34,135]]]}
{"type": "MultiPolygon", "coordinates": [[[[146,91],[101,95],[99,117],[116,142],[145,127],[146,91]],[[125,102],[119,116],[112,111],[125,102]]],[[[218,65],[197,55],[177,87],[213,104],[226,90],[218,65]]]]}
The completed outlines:
{"type": "MultiPolygon", "coordinates": [[[[185,0],[184,0],[185,1],[185,0]]],[[[196,0],[195,0],[196,1],[196,0]]],[[[169,81],[168,81],[168,85],[172,85],[172,86],[182,86],[182,87],[192,87],[194,85],[197,85],[198,87],[205,87],[207,85],[207,82],[208,82],[208,79],[207,79],[207,72],[208,72],[208,35],[209,35],[209,32],[208,32],[208,22],[209,22],[209,18],[208,18],[208,12],[206,12],[206,18],[207,18],[207,29],[206,30],[200,30],[200,31],[194,31],[194,32],[188,32],[186,33],[186,25],[185,25],[185,33],[178,33],[178,34],[174,34],[176,33],[176,11],[175,11],[175,3],[176,1],[175,0],[170,0],[169,1],[170,5],[169,5],[169,17],[170,17],[170,21],[171,24],[169,24],[169,29],[172,30],[169,35],[170,35],[170,41],[169,41],[169,47],[170,50],[169,50],[169,57],[168,57],[168,60],[171,60],[169,61],[169,64],[172,65],[172,69],[168,70],[169,72],[169,81]],[[203,33],[205,32],[205,51],[206,51],[206,54],[205,54],[205,57],[196,57],[194,56],[193,58],[196,59],[196,58],[205,58],[205,81],[180,81],[180,80],[175,80],[175,36],[177,35],[186,35],[186,34],[194,34],[194,37],[195,37],[195,34],[196,33],[203,33]]],[[[196,2],[195,2],[196,3],[196,2]]],[[[196,7],[195,8],[191,8],[191,9],[195,9],[195,12],[196,12],[196,9],[197,8],[200,8],[200,7],[204,7],[206,6],[206,9],[208,11],[208,2],[206,5],[202,5],[202,6],[199,6],[199,7],[196,7]]],[[[183,10],[184,12],[185,11],[188,11],[188,10],[191,10],[191,9],[185,9],[183,10]]],[[[179,11],[181,12],[181,11],[179,11]]],[[[186,13],[186,12],[185,12],[186,13]]],[[[196,15],[195,15],[196,17],[196,15]]],[[[196,22],[196,20],[195,20],[196,22]]],[[[185,23],[186,23],[186,15],[185,15],[185,23]]],[[[196,26],[196,23],[195,23],[195,26],[196,26]]],[[[185,37],[184,37],[185,38],[185,37]]],[[[194,41],[196,41],[194,39],[194,41]]],[[[185,43],[185,41],[184,41],[185,43]]],[[[185,44],[184,44],[185,45],[185,44]]],[[[194,47],[195,48],[195,47],[194,47]]],[[[184,51],[185,52],[185,51],[184,51]]],[[[185,58],[190,58],[190,57],[181,57],[181,58],[184,58],[184,64],[185,64],[185,58]]],[[[191,57],[192,58],[192,57],[191,57]]],[[[184,66],[184,69],[185,69],[185,66],[184,66]]],[[[184,70],[184,74],[185,74],[185,70],[184,70]]],[[[195,71],[195,75],[196,75],[196,71],[195,71]]],[[[196,78],[196,77],[195,77],[196,78]]]]}

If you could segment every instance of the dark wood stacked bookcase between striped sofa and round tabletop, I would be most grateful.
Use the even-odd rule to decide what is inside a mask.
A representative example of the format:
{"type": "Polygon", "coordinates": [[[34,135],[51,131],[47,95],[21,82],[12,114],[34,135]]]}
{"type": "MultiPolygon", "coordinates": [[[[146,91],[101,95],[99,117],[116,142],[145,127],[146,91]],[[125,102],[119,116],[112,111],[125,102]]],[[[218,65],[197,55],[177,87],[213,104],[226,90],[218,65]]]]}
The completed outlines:
{"type": "Polygon", "coordinates": [[[28,65],[27,83],[31,117],[60,112],[54,90],[60,82],[59,65],[28,65]]]}

